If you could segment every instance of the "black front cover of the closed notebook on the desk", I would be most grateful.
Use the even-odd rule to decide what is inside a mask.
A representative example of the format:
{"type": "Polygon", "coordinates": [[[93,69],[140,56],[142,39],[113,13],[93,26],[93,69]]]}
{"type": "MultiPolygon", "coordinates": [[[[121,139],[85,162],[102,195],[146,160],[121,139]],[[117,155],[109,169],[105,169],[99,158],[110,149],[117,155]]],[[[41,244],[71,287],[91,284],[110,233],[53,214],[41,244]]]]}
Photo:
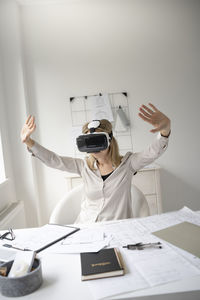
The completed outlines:
{"type": "Polygon", "coordinates": [[[110,248],[102,249],[97,253],[81,253],[82,276],[123,270],[115,251],[114,248],[110,248]]]}

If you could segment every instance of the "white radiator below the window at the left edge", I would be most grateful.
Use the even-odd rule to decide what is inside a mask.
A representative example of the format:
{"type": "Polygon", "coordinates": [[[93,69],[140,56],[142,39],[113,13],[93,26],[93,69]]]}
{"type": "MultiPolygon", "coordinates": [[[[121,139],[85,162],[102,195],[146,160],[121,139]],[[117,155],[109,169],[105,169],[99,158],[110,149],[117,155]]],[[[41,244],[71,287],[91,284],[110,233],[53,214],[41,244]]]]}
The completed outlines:
{"type": "Polygon", "coordinates": [[[25,228],[25,212],[23,202],[12,203],[0,214],[0,229],[25,228]]]}

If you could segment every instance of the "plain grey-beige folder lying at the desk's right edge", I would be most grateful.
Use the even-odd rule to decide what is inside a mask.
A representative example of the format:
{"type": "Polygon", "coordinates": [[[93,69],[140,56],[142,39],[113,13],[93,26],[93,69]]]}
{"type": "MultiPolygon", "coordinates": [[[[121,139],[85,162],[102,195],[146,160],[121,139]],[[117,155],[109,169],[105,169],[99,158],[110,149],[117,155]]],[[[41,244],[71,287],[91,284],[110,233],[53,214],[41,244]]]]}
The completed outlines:
{"type": "Polygon", "coordinates": [[[182,222],[152,234],[200,258],[200,226],[182,222]]]}

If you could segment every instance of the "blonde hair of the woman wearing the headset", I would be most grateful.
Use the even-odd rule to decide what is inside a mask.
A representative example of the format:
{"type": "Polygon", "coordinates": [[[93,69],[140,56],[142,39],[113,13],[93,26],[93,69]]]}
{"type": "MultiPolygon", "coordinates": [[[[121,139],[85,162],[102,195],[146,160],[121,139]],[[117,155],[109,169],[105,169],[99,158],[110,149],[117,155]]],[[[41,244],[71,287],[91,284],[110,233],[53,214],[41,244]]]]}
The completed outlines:
{"type": "MultiPolygon", "coordinates": [[[[88,124],[89,124],[89,122],[85,123],[82,127],[82,132],[84,134],[88,133],[88,131],[89,131],[88,124]]],[[[108,120],[102,119],[102,120],[100,120],[99,127],[96,128],[95,131],[96,132],[107,132],[108,134],[110,134],[112,132],[112,124],[108,120]]],[[[114,136],[112,137],[112,139],[110,141],[108,154],[111,158],[111,162],[112,162],[113,166],[115,168],[117,168],[120,165],[123,156],[121,156],[119,154],[118,143],[117,143],[116,139],[114,138],[114,136]]],[[[96,159],[90,154],[86,158],[86,160],[87,160],[87,164],[88,164],[89,168],[91,170],[95,170],[96,159]]]]}

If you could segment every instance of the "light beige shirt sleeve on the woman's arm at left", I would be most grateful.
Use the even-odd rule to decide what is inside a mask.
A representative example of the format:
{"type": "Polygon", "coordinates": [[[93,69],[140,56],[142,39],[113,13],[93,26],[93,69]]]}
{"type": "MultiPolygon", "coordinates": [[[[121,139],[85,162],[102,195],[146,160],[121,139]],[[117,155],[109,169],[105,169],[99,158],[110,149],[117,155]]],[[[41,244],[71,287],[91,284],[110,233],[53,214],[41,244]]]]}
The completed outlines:
{"type": "Polygon", "coordinates": [[[44,148],[37,142],[35,142],[33,147],[28,148],[28,151],[50,168],[81,175],[81,171],[84,166],[83,159],[60,156],[44,148]]]}

